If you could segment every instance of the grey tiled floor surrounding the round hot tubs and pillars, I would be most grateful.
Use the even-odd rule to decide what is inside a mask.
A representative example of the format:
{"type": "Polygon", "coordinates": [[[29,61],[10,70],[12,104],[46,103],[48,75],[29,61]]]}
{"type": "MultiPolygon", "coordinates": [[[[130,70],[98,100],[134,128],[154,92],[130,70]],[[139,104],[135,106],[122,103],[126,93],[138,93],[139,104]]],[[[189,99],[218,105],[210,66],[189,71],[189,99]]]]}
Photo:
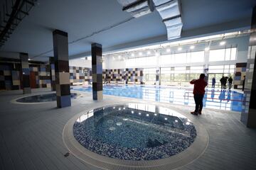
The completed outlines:
{"type": "MultiPolygon", "coordinates": [[[[38,89],[49,91],[49,89],[38,89]]],[[[0,169],[92,169],[68,152],[63,144],[63,128],[75,114],[91,106],[142,100],[104,96],[92,101],[92,94],[72,100],[69,108],[56,108],[55,102],[35,105],[10,101],[22,91],[0,91],[0,169]]],[[[146,102],[146,101],[144,101],[146,102]]],[[[150,103],[155,103],[150,101],[150,103]]],[[[156,103],[171,106],[166,103],[156,103]]],[[[184,115],[191,106],[173,105],[184,115]]],[[[240,113],[204,109],[191,117],[202,123],[209,135],[209,145],[201,157],[181,169],[256,169],[256,130],[240,123],[240,113]]]]}

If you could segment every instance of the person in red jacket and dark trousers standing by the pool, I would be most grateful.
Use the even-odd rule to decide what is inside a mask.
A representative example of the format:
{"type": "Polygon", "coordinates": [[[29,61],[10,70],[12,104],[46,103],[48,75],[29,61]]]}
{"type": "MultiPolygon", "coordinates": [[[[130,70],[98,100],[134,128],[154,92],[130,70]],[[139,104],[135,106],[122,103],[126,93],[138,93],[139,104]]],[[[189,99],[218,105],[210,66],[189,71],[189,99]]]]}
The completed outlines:
{"type": "Polygon", "coordinates": [[[193,95],[196,103],[196,109],[195,111],[191,112],[191,114],[197,115],[198,113],[202,113],[203,96],[206,92],[205,88],[207,86],[207,82],[204,80],[205,77],[205,74],[200,74],[199,79],[193,79],[190,81],[190,84],[194,84],[193,95]]]}

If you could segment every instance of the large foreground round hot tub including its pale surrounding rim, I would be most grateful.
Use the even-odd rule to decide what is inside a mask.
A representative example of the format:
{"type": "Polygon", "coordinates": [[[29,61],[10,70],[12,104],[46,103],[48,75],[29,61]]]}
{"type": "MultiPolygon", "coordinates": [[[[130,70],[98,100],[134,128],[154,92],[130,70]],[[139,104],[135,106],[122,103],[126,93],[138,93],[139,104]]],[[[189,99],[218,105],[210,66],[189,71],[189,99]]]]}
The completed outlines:
{"type": "Polygon", "coordinates": [[[129,103],[72,118],[63,140],[75,156],[103,169],[172,169],[196,159],[206,148],[208,135],[171,108],[129,103]]]}

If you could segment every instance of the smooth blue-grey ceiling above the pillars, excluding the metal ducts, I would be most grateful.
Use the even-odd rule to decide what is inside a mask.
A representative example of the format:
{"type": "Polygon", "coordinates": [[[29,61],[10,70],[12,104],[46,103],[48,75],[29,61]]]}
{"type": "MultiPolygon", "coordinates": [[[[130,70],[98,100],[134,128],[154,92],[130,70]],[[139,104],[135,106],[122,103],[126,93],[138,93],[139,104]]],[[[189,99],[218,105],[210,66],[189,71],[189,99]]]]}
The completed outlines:
{"type": "MultiPolygon", "coordinates": [[[[255,0],[181,0],[181,38],[249,28],[255,5],[255,0]]],[[[55,29],[68,33],[70,58],[90,54],[92,42],[107,52],[167,40],[156,11],[132,18],[117,0],[41,0],[0,52],[27,52],[34,60],[48,60],[55,29]]]]}

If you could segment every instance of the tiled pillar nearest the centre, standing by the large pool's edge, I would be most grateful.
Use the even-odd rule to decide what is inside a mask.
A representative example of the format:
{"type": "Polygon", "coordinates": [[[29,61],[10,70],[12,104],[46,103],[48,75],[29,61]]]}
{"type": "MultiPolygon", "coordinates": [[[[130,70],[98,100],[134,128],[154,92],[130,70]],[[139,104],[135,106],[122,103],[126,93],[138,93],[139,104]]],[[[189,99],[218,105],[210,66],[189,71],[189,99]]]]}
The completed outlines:
{"type": "Polygon", "coordinates": [[[102,100],[102,45],[92,44],[92,98],[102,100]]]}

